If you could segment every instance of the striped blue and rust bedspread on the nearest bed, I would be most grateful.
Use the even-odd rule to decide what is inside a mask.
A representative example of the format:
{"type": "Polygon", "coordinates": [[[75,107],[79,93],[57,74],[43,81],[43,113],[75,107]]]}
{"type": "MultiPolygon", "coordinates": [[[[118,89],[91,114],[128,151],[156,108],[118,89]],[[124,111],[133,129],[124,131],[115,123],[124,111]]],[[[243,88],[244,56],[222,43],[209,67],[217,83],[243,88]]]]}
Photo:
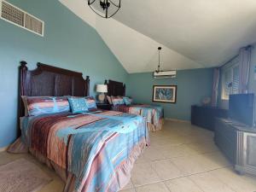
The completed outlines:
{"type": "Polygon", "coordinates": [[[26,117],[21,131],[23,143],[75,176],[72,191],[118,191],[131,154],[148,143],[142,117],[115,111],[26,117]]]}

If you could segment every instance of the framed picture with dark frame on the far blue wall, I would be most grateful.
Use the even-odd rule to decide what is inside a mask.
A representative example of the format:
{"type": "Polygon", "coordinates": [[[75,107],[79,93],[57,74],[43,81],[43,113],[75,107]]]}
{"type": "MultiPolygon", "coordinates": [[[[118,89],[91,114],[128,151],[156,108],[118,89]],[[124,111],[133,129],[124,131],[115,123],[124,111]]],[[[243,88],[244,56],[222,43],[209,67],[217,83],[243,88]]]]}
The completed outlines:
{"type": "Polygon", "coordinates": [[[153,102],[176,103],[177,85],[154,85],[153,102]]]}

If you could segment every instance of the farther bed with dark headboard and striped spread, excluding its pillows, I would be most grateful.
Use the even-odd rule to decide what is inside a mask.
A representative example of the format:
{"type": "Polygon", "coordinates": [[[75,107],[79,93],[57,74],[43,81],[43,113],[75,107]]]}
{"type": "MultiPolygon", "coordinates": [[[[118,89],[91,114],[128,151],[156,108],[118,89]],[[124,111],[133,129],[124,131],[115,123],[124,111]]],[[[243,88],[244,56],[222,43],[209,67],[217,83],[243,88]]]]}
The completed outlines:
{"type": "MultiPolygon", "coordinates": [[[[125,96],[125,84],[110,79],[105,84],[108,84],[108,96],[125,96]]],[[[160,106],[118,104],[113,106],[113,110],[143,116],[147,121],[148,131],[160,131],[164,124],[164,109],[160,106]]]]}

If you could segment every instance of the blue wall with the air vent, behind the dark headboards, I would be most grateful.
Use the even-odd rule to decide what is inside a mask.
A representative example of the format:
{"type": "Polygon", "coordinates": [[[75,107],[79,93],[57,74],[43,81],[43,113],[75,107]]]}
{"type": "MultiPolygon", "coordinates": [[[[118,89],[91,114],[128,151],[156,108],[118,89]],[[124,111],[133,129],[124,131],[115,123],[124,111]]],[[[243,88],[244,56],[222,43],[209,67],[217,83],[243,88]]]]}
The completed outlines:
{"type": "MultiPolygon", "coordinates": [[[[95,29],[59,1],[9,0],[45,22],[44,38],[0,20],[0,148],[16,137],[18,67],[38,61],[90,75],[90,93],[105,79],[126,82],[127,73],[95,29]]],[[[84,1],[85,3],[85,1],[84,1]]]]}

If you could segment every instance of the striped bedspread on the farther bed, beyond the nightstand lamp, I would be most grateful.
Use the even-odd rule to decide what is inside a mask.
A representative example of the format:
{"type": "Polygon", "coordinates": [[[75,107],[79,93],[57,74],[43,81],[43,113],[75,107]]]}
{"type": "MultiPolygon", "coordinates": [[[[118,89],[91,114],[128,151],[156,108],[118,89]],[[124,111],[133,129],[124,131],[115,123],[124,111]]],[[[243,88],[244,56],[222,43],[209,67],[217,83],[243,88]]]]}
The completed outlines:
{"type": "Polygon", "coordinates": [[[151,106],[151,105],[116,105],[113,107],[114,111],[131,113],[143,116],[147,123],[150,123],[154,126],[159,126],[161,120],[164,118],[164,109],[160,106],[151,106]]]}

